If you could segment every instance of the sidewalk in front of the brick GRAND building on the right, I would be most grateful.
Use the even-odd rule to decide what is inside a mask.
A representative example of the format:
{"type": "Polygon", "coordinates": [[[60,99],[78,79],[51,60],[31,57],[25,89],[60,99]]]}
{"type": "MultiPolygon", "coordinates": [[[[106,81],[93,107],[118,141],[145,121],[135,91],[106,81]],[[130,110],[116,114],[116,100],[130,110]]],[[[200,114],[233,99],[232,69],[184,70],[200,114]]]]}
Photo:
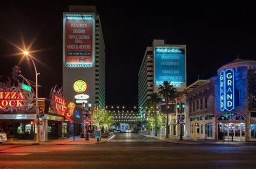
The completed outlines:
{"type": "Polygon", "coordinates": [[[192,137],[183,137],[183,140],[179,140],[179,136],[169,136],[169,138],[165,138],[165,135],[158,135],[158,136],[152,136],[148,135],[145,132],[140,132],[140,135],[143,135],[145,137],[149,138],[154,138],[158,140],[162,140],[164,142],[170,142],[170,143],[177,143],[177,144],[222,144],[222,145],[227,145],[227,144],[250,144],[248,142],[241,142],[241,141],[231,141],[231,140],[215,140],[215,139],[201,139],[197,138],[197,140],[193,140],[192,137]]]}

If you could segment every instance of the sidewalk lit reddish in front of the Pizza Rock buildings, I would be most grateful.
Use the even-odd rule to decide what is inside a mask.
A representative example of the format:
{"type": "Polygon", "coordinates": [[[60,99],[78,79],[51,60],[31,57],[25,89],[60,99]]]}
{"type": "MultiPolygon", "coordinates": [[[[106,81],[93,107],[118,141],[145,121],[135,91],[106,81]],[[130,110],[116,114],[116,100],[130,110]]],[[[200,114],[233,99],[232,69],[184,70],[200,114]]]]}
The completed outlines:
{"type": "Polygon", "coordinates": [[[87,145],[87,144],[99,144],[105,143],[111,139],[113,139],[116,135],[113,135],[111,138],[102,138],[99,142],[97,142],[97,138],[89,138],[89,140],[85,140],[85,138],[80,138],[80,136],[75,136],[75,140],[73,137],[70,138],[62,138],[55,140],[48,140],[47,142],[36,143],[31,140],[16,140],[16,141],[7,141],[2,143],[2,145],[87,145]]]}

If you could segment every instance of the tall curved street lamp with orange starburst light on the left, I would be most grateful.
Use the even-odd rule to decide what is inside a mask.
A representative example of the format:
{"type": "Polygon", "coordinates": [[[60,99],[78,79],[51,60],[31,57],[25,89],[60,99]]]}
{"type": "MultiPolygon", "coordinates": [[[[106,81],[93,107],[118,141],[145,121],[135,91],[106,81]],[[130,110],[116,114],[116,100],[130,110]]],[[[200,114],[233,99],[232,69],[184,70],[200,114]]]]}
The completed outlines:
{"type": "Polygon", "coordinates": [[[38,107],[38,82],[37,82],[37,76],[40,73],[37,73],[37,69],[36,69],[36,65],[35,62],[33,61],[31,55],[29,54],[28,51],[23,51],[23,54],[26,55],[26,57],[28,57],[29,59],[31,59],[33,66],[35,68],[35,72],[36,72],[36,118],[37,118],[37,125],[36,125],[36,142],[39,143],[39,107],[38,107]]]}

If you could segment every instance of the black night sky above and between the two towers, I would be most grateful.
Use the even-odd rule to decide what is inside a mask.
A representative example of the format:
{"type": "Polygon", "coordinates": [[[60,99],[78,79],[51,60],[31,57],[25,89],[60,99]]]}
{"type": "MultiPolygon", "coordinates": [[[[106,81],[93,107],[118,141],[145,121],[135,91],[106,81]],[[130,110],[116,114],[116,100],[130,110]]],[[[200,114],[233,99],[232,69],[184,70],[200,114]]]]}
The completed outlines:
{"type": "MultiPolygon", "coordinates": [[[[187,45],[187,86],[217,75],[217,69],[237,58],[256,59],[255,8],[218,9],[168,4],[171,1],[138,4],[128,1],[72,1],[32,4],[22,1],[0,5],[0,81],[11,77],[11,67],[21,57],[14,43],[34,41],[31,50],[39,75],[39,97],[48,97],[52,86],[62,85],[62,12],[69,5],[96,5],[106,47],[107,105],[138,104],[138,71],[153,39],[165,44],[187,45]]],[[[35,2],[34,2],[35,3],[35,2]]],[[[210,6],[208,6],[210,7],[210,6]]],[[[19,65],[23,75],[35,81],[26,60],[19,65]]]]}

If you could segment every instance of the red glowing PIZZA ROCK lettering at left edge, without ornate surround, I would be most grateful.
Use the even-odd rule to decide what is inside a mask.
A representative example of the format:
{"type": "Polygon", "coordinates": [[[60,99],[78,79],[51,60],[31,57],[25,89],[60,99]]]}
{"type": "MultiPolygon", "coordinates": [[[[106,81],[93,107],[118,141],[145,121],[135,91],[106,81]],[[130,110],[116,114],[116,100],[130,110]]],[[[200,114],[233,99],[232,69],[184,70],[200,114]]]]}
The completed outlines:
{"type": "Polygon", "coordinates": [[[23,106],[24,95],[22,92],[0,91],[0,109],[21,108],[23,106]]]}

